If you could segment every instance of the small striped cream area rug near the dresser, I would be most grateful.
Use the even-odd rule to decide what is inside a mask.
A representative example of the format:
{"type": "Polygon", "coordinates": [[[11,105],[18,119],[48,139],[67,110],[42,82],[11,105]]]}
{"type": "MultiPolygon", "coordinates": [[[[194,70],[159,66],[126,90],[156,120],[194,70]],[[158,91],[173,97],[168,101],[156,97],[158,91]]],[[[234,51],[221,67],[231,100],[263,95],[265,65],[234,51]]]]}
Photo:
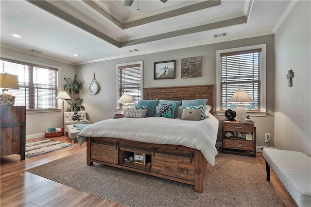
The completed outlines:
{"type": "Polygon", "coordinates": [[[61,150],[74,145],[75,144],[61,141],[54,141],[50,139],[39,139],[35,141],[28,141],[26,142],[25,157],[32,158],[38,155],[51,153],[56,150],[61,150]]]}

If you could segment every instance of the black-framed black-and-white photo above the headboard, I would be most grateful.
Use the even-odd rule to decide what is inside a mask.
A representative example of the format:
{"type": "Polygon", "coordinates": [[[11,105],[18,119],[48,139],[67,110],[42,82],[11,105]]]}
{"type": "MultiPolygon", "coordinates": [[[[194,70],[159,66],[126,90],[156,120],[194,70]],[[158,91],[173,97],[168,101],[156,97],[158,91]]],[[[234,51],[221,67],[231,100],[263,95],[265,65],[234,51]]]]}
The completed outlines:
{"type": "Polygon", "coordinates": [[[176,60],[156,62],[154,79],[172,79],[175,78],[176,60]]]}

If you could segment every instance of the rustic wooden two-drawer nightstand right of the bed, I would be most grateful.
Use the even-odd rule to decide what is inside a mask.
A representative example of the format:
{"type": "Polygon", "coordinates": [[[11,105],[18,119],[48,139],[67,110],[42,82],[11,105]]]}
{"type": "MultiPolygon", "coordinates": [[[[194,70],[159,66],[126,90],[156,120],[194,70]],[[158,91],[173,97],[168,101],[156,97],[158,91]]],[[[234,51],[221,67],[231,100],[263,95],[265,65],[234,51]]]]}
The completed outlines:
{"type": "Polygon", "coordinates": [[[223,121],[222,152],[256,157],[256,127],[254,122],[223,121]]]}

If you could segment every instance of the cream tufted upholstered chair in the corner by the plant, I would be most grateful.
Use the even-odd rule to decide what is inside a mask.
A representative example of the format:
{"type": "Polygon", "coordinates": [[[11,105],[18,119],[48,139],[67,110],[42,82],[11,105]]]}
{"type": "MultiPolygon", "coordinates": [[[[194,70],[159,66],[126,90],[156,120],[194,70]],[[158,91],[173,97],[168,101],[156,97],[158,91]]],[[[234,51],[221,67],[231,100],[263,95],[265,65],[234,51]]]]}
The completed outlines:
{"type": "Polygon", "coordinates": [[[74,142],[74,140],[77,138],[77,135],[80,133],[80,131],[74,127],[74,124],[84,123],[84,122],[89,123],[89,121],[86,118],[85,111],[78,111],[77,114],[80,115],[79,121],[72,120],[72,117],[74,115],[73,111],[64,112],[65,132],[67,133],[67,137],[71,139],[71,143],[74,142]]]}

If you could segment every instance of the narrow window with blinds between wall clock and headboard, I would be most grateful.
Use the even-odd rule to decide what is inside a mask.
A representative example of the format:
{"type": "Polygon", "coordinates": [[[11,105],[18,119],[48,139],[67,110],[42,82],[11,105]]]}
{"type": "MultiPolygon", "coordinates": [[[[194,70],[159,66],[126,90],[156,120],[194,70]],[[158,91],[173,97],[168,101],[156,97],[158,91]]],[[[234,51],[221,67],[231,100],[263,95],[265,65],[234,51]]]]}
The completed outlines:
{"type": "MultiPolygon", "coordinates": [[[[128,94],[134,104],[138,104],[142,95],[142,61],[118,64],[118,94],[117,101],[123,94],[128,94]]],[[[122,108],[123,104],[117,104],[117,108],[122,108]]]]}

